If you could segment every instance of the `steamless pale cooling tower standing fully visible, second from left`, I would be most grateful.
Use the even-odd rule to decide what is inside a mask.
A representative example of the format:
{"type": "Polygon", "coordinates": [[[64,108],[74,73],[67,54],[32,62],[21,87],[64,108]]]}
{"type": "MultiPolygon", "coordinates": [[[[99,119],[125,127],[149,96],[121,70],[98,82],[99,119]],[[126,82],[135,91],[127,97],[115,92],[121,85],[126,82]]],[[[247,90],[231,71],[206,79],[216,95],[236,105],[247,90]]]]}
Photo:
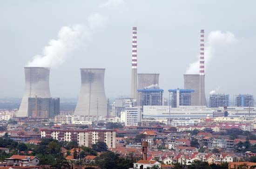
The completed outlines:
{"type": "Polygon", "coordinates": [[[105,69],[81,69],[81,91],[74,115],[106,116],[105,69]]]}

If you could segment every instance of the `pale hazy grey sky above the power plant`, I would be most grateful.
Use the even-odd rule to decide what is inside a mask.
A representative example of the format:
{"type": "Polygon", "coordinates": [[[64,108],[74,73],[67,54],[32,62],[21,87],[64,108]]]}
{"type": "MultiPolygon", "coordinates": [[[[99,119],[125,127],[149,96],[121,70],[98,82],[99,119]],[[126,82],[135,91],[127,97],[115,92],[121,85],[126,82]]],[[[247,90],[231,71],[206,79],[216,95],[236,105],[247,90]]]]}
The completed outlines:
{"type": "MultiPolygon", "coordinates": [[[[209,91],[256,96],[256,1],[236,0],[0,0],[0,97],[22,97],[24,69],[63,26],[91,26],[90,38],[68,51],[50,72],[53,97],[78,97],[80,68],[106,68],[107,97],[130,95],[132,26],[137,26],[138,72],[160,73],[160,87],[183,88],[197,60],[200,29],[230,32],[215,44],[206,67],[209,91]]],[[[206,39],[207,41],[207,39],[206,39]]],[[[74,45],[74,44],[73,44],[74,45]]],[[[70,47],[70,46],[67,46],[70,47]]]]}

